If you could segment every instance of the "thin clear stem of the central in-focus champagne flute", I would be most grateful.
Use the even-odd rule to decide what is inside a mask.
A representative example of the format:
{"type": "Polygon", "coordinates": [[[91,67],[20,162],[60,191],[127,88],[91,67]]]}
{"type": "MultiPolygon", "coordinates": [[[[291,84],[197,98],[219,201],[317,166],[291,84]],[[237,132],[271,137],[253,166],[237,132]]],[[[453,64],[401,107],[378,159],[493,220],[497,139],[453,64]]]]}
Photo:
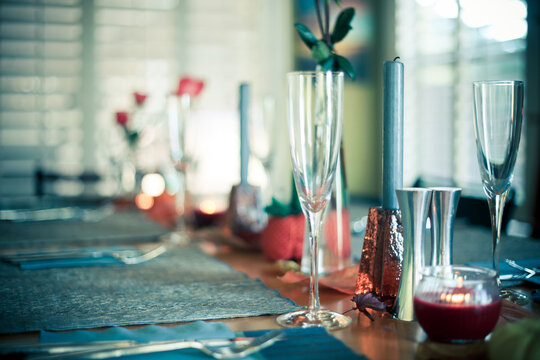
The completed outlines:
{"type": "Polygon", "coordinates": [[[321,227],[321,214],[307,212],[307,225],[309,234],[309,251],[311,257],[311,277],[309,280],[309,310],[316,312],[321,308],[319,302],[319,230],[321,227]]]}

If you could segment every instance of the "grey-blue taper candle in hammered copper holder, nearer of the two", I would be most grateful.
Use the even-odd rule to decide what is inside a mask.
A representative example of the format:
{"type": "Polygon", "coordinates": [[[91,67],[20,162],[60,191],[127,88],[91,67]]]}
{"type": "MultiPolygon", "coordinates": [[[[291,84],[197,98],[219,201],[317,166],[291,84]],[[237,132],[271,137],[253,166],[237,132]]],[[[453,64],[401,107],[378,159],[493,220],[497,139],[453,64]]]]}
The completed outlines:
{"type": "Polygon", "coordinates": [[[403,187],[403,63],[384,62],[383,209],[398,209],[396,190],[403,187]]]}

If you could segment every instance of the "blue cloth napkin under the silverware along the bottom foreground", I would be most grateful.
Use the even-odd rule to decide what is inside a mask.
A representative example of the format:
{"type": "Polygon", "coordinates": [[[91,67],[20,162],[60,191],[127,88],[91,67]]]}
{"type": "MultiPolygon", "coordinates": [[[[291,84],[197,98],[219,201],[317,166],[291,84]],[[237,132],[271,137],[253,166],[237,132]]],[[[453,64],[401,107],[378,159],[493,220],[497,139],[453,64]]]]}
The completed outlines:
{"type": "MultiPolygon", "coordinates": [[[[260,336],[268,330],[247,331],[240,336],[260,336]]],[[[352,351],[342,341],[336,339],[324,328],[283,329],[285,336],[272,346],[263,349],[244,359],[287,359],[287,360],[332,360],[332,359],[367,359],[352,351]]],[[[156,340],[201,340],[201,339],[232,339],[235,334],[227,325],[220,322],[206,323],[202,321],[175,327],[145,326],[137,330],[111,328],[106,331],[69,331],[41,333],[40,341],[51,342],[87,342],[98,340],[137,340],[141,342],[156,340]]],[[[187,360],[208,359],[207,355],[198,350],[177,350],[166,353],[130,356],[130,359],[155,360],[187,360]]]]}

